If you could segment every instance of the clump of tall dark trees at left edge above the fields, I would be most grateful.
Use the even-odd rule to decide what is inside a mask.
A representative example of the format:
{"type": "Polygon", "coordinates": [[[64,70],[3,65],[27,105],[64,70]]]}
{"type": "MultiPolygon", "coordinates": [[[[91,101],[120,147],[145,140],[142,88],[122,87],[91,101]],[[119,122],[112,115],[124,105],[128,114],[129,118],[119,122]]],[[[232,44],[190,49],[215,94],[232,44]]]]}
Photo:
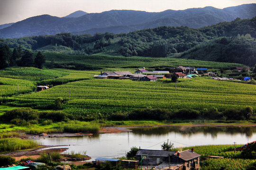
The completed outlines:
{"type": "Polygon", "coordinates": [[[20,45],[12,51],[7,45],[0,47],[0,69],[12,66],[36,67],[41,69],[45,62],[46,57],[41,51],[38,51],[34,57],[32,51],[23,50],[20,45]]]}

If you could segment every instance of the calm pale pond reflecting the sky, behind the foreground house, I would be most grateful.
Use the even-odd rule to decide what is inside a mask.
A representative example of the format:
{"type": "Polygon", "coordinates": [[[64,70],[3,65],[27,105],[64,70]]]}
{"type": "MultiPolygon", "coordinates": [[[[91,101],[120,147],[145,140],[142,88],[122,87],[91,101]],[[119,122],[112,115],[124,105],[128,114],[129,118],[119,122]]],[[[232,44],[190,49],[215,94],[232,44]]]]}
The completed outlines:
{"type": "Polygon", "coordinates": [[[194,127],[137,127],[130,132],[96,134],[93,136],[37,139],[43,145],[68,145],[66,153],[84,153],[97,157],[124,156],[132,146],[142,149],[161,149],[161,144],[174,147],[207,144],[246,144],[256,140],[256,127],[194,126],[194,127]]]}

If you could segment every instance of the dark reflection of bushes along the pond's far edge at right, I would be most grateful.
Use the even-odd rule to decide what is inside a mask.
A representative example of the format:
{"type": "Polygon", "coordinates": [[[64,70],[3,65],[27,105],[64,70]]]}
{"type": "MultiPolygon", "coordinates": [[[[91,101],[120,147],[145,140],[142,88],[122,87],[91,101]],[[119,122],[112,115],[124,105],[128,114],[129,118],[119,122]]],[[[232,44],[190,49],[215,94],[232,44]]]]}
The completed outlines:
{"type": "Polygon", "coordinates": [[[196,134],[203,134],[204,136],[210,135],[216,138],[218,134],[227,135],[246,135],[251,137],[256,133],[256,127],[232,127],[232,126],[193,126],[193,127],[137,127],[132,128],[132,133],[137,136],[162,136],[168,133],[177,133],[182,136],[193,136],[196,134]]]}

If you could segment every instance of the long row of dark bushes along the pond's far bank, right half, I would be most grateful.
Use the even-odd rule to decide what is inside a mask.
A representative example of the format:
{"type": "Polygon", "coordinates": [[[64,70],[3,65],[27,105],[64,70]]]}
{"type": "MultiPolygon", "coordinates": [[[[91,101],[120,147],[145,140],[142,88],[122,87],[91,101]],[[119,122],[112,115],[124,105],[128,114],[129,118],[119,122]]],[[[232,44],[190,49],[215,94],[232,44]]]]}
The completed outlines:
{"type": "Polygon", "coordinates": [[[256,120],[256,114],[251,107],[241,110],[227,109],[222,112],[216,108],[204,109],[203,111],[192,109],[181,109],[170,111],[166,109],[139,109],[130,113],[116,112],[110,115],[110,120],[137,120],[137,119],[153,119],[153,120],[169,120],[169,119],[221,119],[221,120],[256,120]]]}

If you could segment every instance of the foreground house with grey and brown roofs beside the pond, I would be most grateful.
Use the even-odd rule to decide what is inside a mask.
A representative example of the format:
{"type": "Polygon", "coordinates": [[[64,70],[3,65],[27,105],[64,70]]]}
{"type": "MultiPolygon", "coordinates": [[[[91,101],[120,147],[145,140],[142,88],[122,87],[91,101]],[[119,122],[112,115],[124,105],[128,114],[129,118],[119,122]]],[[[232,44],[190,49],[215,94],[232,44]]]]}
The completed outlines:
{"type": "Polygon", "coordinates": [[[193,149],[182,152],[139,149],[136,153],[137,160],[145,155],[148,159],[144,159],[142,165],[157,165],[155,169],[169,169],[169,164],[170,170],[200,169],[201,155],[193,149]]]}

